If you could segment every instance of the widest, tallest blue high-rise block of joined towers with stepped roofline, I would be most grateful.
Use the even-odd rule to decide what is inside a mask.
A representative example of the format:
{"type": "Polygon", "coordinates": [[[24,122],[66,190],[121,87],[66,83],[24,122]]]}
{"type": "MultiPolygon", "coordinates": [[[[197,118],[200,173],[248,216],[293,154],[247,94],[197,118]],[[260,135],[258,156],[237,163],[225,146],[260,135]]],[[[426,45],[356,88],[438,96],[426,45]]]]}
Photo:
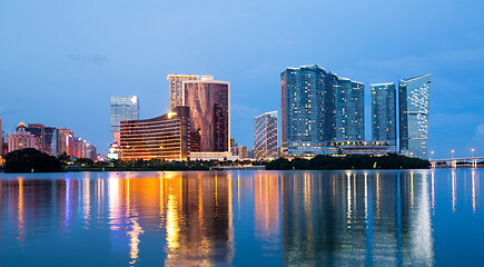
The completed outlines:
{"type": "Polygon", "coordinates": [[[365,140],[364,86],[322,67],[280,73],[283,152],[328,154],[328,142],[365,140]]]}

